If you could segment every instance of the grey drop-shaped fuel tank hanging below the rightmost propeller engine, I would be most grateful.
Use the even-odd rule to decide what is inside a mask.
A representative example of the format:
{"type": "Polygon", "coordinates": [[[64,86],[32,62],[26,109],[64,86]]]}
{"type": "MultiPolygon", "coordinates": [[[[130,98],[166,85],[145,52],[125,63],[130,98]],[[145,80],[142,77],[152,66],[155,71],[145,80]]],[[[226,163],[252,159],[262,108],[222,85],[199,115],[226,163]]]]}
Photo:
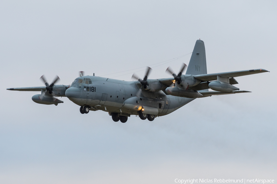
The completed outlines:
{"type": "Polygon", "coordinates": [[[186,98],[199,98],[200,96],[203,96],[201,93],[195,90],[192,90],[192,89],[185,90],[184,88],[178,88],[178,87],[168,87],[166,88],[166,92],[172,96],[181,96],[186,98]]]}

